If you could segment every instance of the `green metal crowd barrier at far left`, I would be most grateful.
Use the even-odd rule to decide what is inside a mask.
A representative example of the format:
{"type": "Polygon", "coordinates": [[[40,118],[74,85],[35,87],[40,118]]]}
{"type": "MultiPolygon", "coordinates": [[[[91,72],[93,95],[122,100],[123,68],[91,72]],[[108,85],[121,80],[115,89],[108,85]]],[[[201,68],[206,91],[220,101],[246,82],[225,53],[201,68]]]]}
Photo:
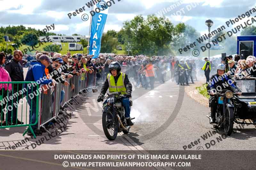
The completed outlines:
{"type": "MultiPolygon", "coordinates": [[[[33,134],[33,136],[36,138],[34,131],[31,126],[35,126],[38,122],[38,108],[39,108],[39,95],[38,88],[39,86],[36,84],[36,82],[32,81],[22,81],[22,82],[1,82],[3,85],[1,89],[1,97],[0,97],[0,108],[1,108],[1,122],[0,122],[0,129],[1,128],[12,128],[12,127],[24,127],[28,126],[28,128],[23,133],[23,136],[27,133],[28,130],[30,130],[33,134]],[[7,84],[7,92],[4,93],[4,84],[7,84]],[[12,84],[12,90],[9,91],[9,84],[12,84]],[[24,88],[25,84],[34,84],[35,86],[31,85],[30,87],[27,86],[27,88],[24,88]],[[17,85],[17,87],[14,88],[14,85],[17,85]],[[35,89],[36,88],[36,89],[35,89]],[[28,93],[28,91],[31,89],[31,91],[35,91],[35,93],[28,93]],[[26,99],[34,99],[36,97],[36,121],[35,123],[29,122],[29,112],[32,116],[32,109],[30,109],[30,106],[28,104],[28,101],[26,99]],[[21,100],[22,99],[22,100],[21,100]],[[6,107],[6,108],[5,108],[6,107]],[[8,119],[8,110],[11,111],[11,122],[15,125],[6,125],[3,124],[2,121],[4,121],[4,115],[6,116],[5,121],[7,122],[8,119]],[[13,110],[16,110],[16,113],[13,113],[13,110]],[[16,119],[13,120],[13,115],[16,115],[16,119]],[[24,122],[24,124],[17,124],[18,119],[21,122],[24,122]]],[[[33,107],[33,102],[31,102],[31,107],[33,107]]]]}

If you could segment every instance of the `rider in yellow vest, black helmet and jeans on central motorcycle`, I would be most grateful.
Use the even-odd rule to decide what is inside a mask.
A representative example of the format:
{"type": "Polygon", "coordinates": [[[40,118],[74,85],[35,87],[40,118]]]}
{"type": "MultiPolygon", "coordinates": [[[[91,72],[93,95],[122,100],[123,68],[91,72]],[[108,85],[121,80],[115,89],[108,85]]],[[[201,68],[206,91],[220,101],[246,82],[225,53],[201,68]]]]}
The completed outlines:
{"type": "MultiPolygon", "coordinates": [[[[112,62],[108,66],[109,74],[105,80],[104,85],[101,88],[100,96],[98,97],[98,102],[103,101],[103,96],[109,89],[109,92],[121,92],[121,94],[126,97],[121,98],[121,102],[124,106],[126,123],[132,126],[133,123],[130,119],[130,102],[129,98],[132,97],[132,84],[130,83],[128,76],[121,72],[121,65],[118,62],[112,62]]],[[[107,100],[103,103],[106,104],[107,100]]]]}

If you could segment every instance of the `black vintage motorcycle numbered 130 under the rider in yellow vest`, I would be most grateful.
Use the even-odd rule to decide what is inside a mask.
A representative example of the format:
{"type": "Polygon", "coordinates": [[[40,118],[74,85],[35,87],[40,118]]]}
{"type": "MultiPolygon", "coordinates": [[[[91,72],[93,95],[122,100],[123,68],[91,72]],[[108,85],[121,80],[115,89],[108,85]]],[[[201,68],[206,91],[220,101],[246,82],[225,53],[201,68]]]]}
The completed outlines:
{"type": "MultiPolygon", "coordinates": [[[[92,89],[93,93],[97,91],[97,89],[92,89]]],[[[115,140],[119,132],[129,133],[131,128],[131,126],[126,124],[124,107],[121,103],[122,97],[125,97],[125,94],[121,95],[121,92],[107,93],[103,97],[103,99],[107,99],[107,103],[102,106],[102,127],[109,140],[115,140]]],[[[130,107],[132,107],[132,100],[129,100],[129,102],[130,107]]],[[[135,118],[131,118],[131,120],[133,119],[135,118]]]]}

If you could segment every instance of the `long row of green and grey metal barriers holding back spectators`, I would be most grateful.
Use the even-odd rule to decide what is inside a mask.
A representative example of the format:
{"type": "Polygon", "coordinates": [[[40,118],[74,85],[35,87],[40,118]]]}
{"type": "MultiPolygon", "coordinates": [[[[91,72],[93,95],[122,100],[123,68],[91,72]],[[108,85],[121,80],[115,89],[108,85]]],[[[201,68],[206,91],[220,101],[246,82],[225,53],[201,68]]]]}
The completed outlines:
{"type": "MultiPolygon", "coordinates": [[[[33,133],[33,136],[36,138],[33,129],[31,128],[31,126],[37,126],[37,129],[40,128],[44,128],[46,130],[47,133],[50,134],[50,132],[45,128],[45,126],[52,122],[52,120],[55,120],[60,127],[63,127],[61,123],[63,123],[64,125],[66,125],[59,117],[59,113],[62,112],[64,114],[68,114],[65,110],[60,109],[60,107],[64,107],[65,105],[68,106],[70,108],[70,110],[73,110],[74,107],[72,106],[72,104],[70,103],[71,101],[75,102],[76,104],[78,104],[78,101],[76,100],[76,97],[79,97],[81,100],[82,97],[80,96],[80,94],[82,94],[85,97],[84,94],[84,90],[87,90],[89,88],[95,88],[95,84],[96,84],[96,72],[93,72],[92,74],[90,73],[84,73],[82,75],[76,76],[74,75],[72,78],[67,79],[66,81],[68,81],[69,85],[65,86],[61,83],[57,83],[54,87],[48,87],[47,85],[37,85],[36,90],[38,91],[37,94],[35,94],[36,96],[36,122],[35,123],[29,123],[29,106],[28,103],[26,102],[24,105],[24,102],[22,100],[21,105],[18,106],[18,111],[16,112],[17,118],[16,120],[14,120],[14,122],[19,119],[21,121],[26,120],[26,122],[22,125],[9,125],[9,126],[4,126],[2,124],[2,120],[3,120],[3,116],[0,117],[0,128],[11,128],[11,127],[22,127],[22,126],[28,126],[31,130],[31,132],[33,133]],[[41,91],[39,90],[41,89],[41,91]],[[64,90],[64,96],[63,96],[63,100],[60,103],[61,100],[61,90],[64,90]],[[23,108],[23,107],[26,107],[23,108]],[[26,114],[23,113],[23,111],[26,110],[26,114]],[[20,115],[21,113],[21,115],[20,115]],[[60,121],[58,121],[60,120],[60,121]]],[[[1,82],[1,84],[22,84],[22,87],[24,84],[31,84],[34,83],[36,84],[36,82],[1,82]]],[[[32,91],[33,91],[33,87],[32,91]]],[[[13,88],[12,88],[13,89],[13,88]]],[[[2,88],[2,93],[4,92],[4,89],[2,88]]],[[[19,92],[19,87],[17,89],[17,92],[19,92]]],[[[22,89],[21,89],[22,90],[22,89]]],[[[28,94],[28,87],[26,93],[22,92],[22,96],[25,97],[30,97],[28,94]],[[26,94],[27,96],[25,96],[24,94],[26,94]]],[[[34,89],[35,90],[35,89],[34,89]]],[[[13,94],[12,93],[8,93],[7,97],[9,99],[9,95],[13,94]]],[[[15,95],[15,93],[14,93],[15,95]]],[[[1,105],[5,106],[3,104],[3,101],[5,101],[5,99],[2,99],[0,96],[0,108],[1,105]]],[[[12,100],[11,100],[12,101],[12,100]]],[[[84,101],[84,100],[83,100],[84,101]]],[[[16,101],[12,101],[12,106],[15,105],[16,101]]],[[[32,102],[33,104],[33,102],[32,102]]],[[[18,104],[17,104],[18,105],[18,104]]],[[[9,104],[7,104],[7,107],[9,106],[9,104]]],[[[32,107],[32,106],[31,106],[32,107]]],[[[3,109],[1,109],[1,115],[3,115],[3,109]]],[[[32,113],[32,109],[30,109],[31,113],[32,113]]],[[[71,112],[72,113],[72,112],[71,112]]],[[[6,114],[7,115],[7,114],[6,114]]],[[[32,114],[31,114],[32,115],[32,114]]],[[[13,120],[12,120],[13,121],[13,120]]],[[[25,133],[28,131],[28,129],[23,133],[23,136],[25,135],[25,133]]]]}

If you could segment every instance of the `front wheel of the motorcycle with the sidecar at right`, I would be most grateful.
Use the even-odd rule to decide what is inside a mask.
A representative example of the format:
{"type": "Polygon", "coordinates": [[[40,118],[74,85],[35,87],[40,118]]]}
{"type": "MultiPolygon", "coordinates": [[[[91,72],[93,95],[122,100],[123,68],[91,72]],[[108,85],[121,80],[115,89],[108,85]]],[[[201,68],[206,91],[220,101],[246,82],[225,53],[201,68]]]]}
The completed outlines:
{"type": "Polygon", "coordinates": [[[234,111],[233,108],[226,108],[224,116],[224,132],[226,135],[230,136],[233,131],[234,125],[234,111]]]}

